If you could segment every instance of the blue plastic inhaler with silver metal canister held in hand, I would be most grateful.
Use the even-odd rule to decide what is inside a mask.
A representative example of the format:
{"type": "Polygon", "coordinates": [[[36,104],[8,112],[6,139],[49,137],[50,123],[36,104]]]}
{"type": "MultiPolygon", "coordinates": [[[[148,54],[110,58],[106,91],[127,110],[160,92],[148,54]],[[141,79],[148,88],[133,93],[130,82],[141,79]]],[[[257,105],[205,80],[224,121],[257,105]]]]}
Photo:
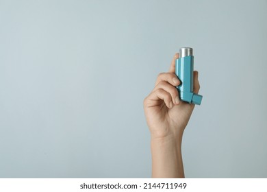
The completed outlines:
{"type": "Polygon", "coordinates": [[[177,86],[179,89],[179,97],[182,101],[186,101],[189,104],[200,105],[202,95],[193,92],[193,71],[193,49],[190,47],[183,47],[179,50],[179,58],[176,60],[175,64],[175,73],[181,81],[181,84],[177,86]]]}

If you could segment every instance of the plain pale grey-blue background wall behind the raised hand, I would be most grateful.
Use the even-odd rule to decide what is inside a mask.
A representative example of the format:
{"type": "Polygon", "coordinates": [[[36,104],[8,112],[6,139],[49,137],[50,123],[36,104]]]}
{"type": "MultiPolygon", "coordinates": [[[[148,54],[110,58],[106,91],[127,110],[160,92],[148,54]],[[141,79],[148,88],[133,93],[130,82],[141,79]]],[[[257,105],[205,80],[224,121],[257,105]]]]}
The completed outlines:
{"type": "Polygon", "coordinates": [[[0,1],[0,177],[149,178],[142,101],[193,47],[188,178],[267,178],[267,1],[0,1]]]}

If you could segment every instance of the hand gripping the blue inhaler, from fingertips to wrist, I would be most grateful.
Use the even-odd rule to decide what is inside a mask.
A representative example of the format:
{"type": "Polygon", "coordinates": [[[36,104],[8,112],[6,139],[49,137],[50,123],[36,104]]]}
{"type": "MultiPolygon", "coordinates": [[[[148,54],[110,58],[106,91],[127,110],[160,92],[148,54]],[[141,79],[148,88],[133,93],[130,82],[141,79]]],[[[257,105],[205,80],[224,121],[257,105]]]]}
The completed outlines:
{"type": "MultiPolygon", "coordinates": [[[[194,109],[194,104],[179,100],[176,86],[180,81],[175,75],[177,58],[179,53],[173,57],[168,73],[158,75],[155,88],[144,99],[144,114],[151,136],[155,138],[181,136],[194,109]]],[[[198,72],[194,71],[194,93],[199,93],[199,88],[198,72]]]]}

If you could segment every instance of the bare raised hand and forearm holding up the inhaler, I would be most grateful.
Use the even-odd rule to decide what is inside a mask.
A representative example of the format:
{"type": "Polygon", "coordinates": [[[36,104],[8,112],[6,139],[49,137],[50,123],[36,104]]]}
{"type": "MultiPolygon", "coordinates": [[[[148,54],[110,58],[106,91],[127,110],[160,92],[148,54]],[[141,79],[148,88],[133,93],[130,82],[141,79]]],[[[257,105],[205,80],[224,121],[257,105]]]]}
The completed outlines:
{"type": "MultiPolygon", "coordinates": [[[[151,132],[152,178],[184,178],[181,140],[194,104],[179,100],[175,75],[176,53],[168,73],[160,73],[155,88],[144,99],[144,114],[151,132]]],[[[198,72],[194,71],[194,93],[199,93],[198,72]]]]}

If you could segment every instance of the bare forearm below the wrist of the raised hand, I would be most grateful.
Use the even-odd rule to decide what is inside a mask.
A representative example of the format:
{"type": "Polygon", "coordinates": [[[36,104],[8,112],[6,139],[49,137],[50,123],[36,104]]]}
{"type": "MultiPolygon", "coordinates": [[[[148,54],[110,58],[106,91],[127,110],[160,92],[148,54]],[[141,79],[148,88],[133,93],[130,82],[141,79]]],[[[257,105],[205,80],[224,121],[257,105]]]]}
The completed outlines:
{"type": "Polygon", "coordinates": [[[151,136],[152,178],[184,178],[181,138],[151,136]]]}

